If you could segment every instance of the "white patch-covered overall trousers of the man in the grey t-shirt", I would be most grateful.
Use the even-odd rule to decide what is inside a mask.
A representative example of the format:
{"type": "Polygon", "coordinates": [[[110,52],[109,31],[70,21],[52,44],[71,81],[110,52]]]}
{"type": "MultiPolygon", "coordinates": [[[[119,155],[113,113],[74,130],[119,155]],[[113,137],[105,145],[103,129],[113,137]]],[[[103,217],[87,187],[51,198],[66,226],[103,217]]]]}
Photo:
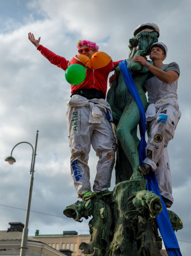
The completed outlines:
{"type": "Polygon", "coordinates": [[[171,171],[167,145],[174,137],[174,131],[181,112],[172,105],[160,108],[156,119],[147,123],[148,143],[146,158],[143,163],[149,164],[156,173],[159,191],[162,196],[174,201],[172,197],[171,171]]]}

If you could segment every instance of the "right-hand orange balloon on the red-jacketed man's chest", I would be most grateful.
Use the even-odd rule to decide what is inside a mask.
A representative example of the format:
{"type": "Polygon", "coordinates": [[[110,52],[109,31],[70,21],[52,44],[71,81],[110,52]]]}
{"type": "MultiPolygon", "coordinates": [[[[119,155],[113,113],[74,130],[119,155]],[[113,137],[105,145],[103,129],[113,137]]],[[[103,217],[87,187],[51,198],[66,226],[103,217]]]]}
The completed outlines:
{"type": "Polygon", "coordinates": [[[105,67],[111,61],[111,57],[105,52],[95,52],[91,57],[91,64],[93,69],[105,67]]]}

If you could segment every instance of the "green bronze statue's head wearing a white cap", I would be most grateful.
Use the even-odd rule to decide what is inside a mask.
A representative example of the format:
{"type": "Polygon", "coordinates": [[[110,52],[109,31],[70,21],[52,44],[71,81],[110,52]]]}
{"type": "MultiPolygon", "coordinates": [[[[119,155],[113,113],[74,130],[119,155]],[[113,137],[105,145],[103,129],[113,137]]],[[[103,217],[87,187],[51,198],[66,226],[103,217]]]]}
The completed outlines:
{"type": "Polygon", "coordinates": [[[147,22],[137,26],[133,31],[133,38],[129,40],[129,57],[134,47],[137,50],[144,50],[145,55],[148,55],[150,46],[158,42],[158,37],[159,27],[155,23],[147,22]]]}

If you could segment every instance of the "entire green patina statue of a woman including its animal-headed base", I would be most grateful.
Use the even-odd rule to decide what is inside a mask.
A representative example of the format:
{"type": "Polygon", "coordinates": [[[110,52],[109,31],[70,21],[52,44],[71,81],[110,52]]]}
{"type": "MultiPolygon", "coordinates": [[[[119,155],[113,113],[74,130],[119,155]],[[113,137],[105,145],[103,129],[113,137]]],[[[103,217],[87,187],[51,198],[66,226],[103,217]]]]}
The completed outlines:
{"type": "MultiPolygon", "coordinates": [[[[153,23],[150,23],[153,24],[153,23]]],[[[154,26],[138,26],[129,41],[127,67],[136,84],[143,106],[147,99],[143,84],[148,69],[135,56],[146,56],[151,44],[158,41],[159,29],[154,26]]],[[[81,222],[81,218],[93,216],[89,222],[91,239],[79,248],[85,256],[160,256],[162,239],[158,233],[156,217],[162,211],[160,197],[147,191],[147,180],[140,174],[137,137],[139,110],[124,82],[120,67],[116,68],[117,81],[113,81],[107,100],[113,111],[119,147],[116,160],[116,186],[111,195],[77,201],[64,209],[64,214],[81,222]]],[[[182,221],[168,211],[174,230],[182,228],[182,221]]]]}

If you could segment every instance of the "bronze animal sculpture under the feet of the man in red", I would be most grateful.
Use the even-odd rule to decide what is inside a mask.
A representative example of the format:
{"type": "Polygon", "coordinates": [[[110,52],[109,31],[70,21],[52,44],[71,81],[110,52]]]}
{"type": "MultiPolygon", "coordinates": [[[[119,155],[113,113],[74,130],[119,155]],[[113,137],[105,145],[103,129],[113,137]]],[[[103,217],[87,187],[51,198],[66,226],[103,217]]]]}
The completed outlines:
{"type": "Polygon", "coordinates": [[[85,255],[106,255],[113,235],[113,214],[107,201],[102,200],[101,196],[96,196],[94,200],[77,201],[66,207],[64,214],[79,222],[82,217],[87,219],[92,215],[89,222],[90,243],[82,242],[79,248],[85,255]]]}

